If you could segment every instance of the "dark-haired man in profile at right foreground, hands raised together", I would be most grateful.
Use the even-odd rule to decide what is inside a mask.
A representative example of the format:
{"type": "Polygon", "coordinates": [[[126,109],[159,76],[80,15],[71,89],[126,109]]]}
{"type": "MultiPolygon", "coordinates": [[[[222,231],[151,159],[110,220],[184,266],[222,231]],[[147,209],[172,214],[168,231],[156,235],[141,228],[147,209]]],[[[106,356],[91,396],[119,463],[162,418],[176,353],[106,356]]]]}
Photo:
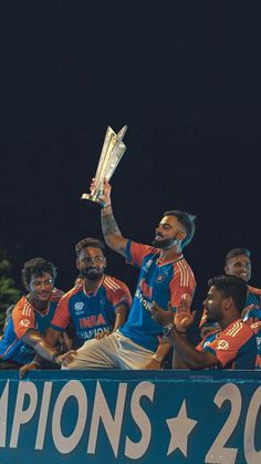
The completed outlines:
{"type": "Polygon", "coordinates": [[[156,302],[153,317],[164,327],[164,333],[174,346],[174,368],[182,369],[254,369],[257,341],[251,328],[243,322],[248,286],[236,276],[219,276],[208,281],[209,291],[203,305],[208,322],[218,322],[219,329],[208,333],[197,346],[186,338],[194,322],[188,298],[182,298],[173,322],[173,315],[163,311],[156,302]]]}

